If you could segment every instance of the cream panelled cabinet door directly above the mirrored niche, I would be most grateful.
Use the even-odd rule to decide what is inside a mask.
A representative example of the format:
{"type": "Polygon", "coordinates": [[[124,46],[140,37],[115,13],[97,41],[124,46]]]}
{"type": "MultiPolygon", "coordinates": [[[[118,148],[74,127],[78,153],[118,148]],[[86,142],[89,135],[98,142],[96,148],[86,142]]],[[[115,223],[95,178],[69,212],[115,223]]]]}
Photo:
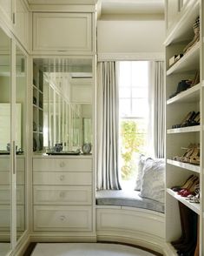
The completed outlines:
{"type": "Polygon", "coordinates": [[[90,13],[34,13],[33,51],[91,51],[90,13]]]}

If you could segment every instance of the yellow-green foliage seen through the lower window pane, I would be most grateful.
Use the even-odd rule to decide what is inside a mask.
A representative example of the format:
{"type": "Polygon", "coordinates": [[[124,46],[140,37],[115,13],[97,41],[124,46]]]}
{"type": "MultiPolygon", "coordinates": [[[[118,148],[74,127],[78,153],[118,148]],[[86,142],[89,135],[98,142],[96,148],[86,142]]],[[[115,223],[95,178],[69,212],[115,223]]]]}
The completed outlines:
{"type": "Polygon", "coordinates": [[[121,120],[122,179],[128,180],[137,172],[136,153],[143,153],[145,131],[136,120],[121,120]]]}

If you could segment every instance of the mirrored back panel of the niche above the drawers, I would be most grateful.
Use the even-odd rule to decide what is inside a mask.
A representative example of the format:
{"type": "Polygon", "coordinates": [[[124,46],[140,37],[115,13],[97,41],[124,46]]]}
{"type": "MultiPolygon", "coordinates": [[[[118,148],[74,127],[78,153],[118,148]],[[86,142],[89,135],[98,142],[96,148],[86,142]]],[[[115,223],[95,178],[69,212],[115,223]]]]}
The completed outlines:
{"type": "MultiPolygon", "coordinates": [[[[92,143],[92,59],[34,59],[34,95],[40,73],[43,74],[43,150],[76,152],[84,142],[92,143]]],[[[37,97],[34,113],[36,107],[37,97]]],[[[37,117],[35,122],[37,126],[37,117]]],[[[36,133],[34,138],[39,136],[36,133]]]]}

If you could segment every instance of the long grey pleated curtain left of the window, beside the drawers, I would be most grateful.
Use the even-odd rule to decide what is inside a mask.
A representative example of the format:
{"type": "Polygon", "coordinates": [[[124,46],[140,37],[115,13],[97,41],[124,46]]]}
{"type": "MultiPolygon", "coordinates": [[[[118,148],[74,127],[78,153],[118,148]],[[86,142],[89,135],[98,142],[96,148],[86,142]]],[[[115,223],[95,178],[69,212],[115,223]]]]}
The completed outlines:
{"type": "Polygon", "coordinates": [[[121,189],[118,173],[119,95],[115,62],[97,68],[97,172],[98,190],[121,189]]]}

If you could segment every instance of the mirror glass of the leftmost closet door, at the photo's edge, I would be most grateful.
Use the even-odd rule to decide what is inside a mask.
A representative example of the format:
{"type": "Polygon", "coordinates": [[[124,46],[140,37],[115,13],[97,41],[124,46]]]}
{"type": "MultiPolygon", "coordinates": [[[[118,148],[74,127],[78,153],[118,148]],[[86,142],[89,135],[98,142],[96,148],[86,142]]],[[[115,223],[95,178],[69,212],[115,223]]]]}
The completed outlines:
{"type": "Polygon", "coordinates": [[[10,38],[0,29],[0,254],[10,251],[10,38]],[[6,155],[7,154],[7,155],[6,155]]]}

